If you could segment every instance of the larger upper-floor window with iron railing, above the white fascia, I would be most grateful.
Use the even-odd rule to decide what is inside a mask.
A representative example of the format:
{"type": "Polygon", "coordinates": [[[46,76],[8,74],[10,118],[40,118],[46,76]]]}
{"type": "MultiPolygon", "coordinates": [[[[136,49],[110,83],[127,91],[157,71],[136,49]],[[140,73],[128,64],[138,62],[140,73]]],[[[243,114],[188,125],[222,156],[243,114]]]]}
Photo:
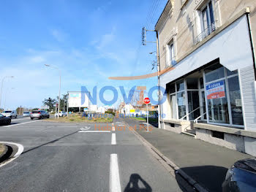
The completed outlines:
{"type": "Polygon", "coordinates": [[[200,34],[197,36],[196,43],[205,39],[217,28],[212,1],[209,1],[200,11],[200,26],[200,34]]]}

